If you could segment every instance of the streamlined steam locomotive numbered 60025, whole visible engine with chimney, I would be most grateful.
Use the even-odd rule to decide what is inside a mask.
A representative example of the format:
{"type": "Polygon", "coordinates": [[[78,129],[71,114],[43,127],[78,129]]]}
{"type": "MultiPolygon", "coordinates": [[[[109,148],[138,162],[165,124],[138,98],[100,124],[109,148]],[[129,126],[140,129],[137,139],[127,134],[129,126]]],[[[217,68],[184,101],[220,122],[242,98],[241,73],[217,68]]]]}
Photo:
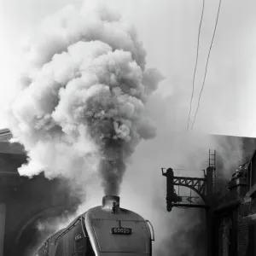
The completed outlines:
{"type": "Polygon", "coordinates": [[[120,208],[119,196],[106,195],[102,206],[50,236],[34,256],[151,256],[152,241],[152,224],[120,208]]]}

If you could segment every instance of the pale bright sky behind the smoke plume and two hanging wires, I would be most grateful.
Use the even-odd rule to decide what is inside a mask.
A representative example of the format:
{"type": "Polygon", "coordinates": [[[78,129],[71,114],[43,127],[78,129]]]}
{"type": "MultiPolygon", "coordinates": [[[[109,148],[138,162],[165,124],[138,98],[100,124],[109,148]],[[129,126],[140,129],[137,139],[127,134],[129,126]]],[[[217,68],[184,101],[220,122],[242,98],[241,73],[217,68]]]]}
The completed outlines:
{"type": "MultiPolygon", "coordinates": [[[[67,3],[79,1],[1,0],[2,109],[13,94],[18,70],[16,62],[24,35],[67,3]]],[[[174,100],[179,98],[177,105],[188,115],[202,1],[108,0],[108,4],[137,27],[148,53],[148,67],[157,67],[166,77],[160,93],[165,97],[173,96],[174,100]]],[[[256,137],[253,117],[256,110],[255,5],[253,0],[247,4],[238,0],[222,3],[195,131],[203,126],[207,132],[256,137]]],[[[201,90],[217,10],[218,1],[206,1],[192,115],[201,90]]],[[[186,122],[187,117],[183,119],[184,129],[186,122]]],[[[0,127],[5,126],[6,120],[2,118],[0,127]]]]}

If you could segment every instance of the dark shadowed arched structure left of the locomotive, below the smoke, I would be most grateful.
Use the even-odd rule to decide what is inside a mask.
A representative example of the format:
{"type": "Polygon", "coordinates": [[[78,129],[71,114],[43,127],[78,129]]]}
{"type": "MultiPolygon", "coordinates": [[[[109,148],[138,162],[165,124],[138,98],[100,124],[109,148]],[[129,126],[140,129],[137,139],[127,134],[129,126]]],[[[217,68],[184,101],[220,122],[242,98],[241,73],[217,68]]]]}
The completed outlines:
{"type": "Polygon", "coordinates": [[[63,180],[20,177],[26,152],[10,138],[9,130],[0,131],[0,256],[25,256],[39,239],[38,220],[73,212],[79,200],[63,180]]]}

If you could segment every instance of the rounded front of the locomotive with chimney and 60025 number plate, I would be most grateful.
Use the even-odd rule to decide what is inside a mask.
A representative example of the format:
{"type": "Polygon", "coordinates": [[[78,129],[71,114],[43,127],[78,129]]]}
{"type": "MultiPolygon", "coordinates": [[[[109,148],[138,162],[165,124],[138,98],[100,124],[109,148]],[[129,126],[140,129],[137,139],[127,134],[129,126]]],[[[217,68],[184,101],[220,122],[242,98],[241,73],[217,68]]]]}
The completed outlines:
{"type": "Polygon", "coordinates": [[[152,254],[154,237],[147,221],[135,212],[120,208],[118,196],[103,197],[102,207],[90,209],[84,217],[96,256],[152,254]]]}

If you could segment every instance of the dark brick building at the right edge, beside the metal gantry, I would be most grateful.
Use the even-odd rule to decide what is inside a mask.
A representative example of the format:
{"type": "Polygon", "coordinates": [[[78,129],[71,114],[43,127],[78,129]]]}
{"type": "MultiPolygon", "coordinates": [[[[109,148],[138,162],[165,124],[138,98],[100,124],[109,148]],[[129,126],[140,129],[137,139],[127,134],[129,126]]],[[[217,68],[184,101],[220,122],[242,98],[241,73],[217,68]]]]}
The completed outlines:
{"type": "Polygon", "coordinates": [[[214,212],[213,255],[256,255],[256,151],[239,166],[214,212]]]}

